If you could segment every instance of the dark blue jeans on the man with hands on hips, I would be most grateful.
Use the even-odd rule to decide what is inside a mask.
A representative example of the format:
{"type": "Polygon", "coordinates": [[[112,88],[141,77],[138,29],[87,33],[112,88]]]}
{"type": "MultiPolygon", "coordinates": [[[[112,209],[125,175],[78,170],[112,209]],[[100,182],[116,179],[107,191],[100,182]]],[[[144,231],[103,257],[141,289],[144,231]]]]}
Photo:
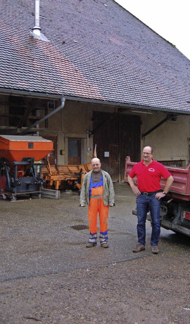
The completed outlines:
{"type": "Polygon", "coordinates": [[[137,235],[138,242],[146,244],[146,214],[148,210],[150,211],[152,218],[152,235],[151,235],[151,245],[158,245],[160,238],[160,205],[161,199],[158,200],[155,198],[155,194],[151,196],[145,196],[141,194],[137,197],[137,235]]]}

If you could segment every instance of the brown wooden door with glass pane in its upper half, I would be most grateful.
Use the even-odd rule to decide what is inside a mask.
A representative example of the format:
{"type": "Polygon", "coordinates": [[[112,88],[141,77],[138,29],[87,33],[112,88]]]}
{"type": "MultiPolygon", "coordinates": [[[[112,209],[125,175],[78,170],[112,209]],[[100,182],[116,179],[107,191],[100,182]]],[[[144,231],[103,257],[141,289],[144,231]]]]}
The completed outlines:
{"type": "Polygon", "coordinates": [[[81,164],[81,139],[68,138],[68,164],[81,164]]]}

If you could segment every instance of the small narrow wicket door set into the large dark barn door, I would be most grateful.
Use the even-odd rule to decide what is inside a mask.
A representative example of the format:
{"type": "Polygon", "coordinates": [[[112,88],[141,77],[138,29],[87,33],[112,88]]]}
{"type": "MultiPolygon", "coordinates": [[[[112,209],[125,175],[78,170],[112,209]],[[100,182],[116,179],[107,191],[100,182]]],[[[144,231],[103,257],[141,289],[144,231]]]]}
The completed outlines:
{"type": "Polygon", "coordinates": [[[110,145],[109,174],[113,182],[119,182],[119,145],[110,145]]]}

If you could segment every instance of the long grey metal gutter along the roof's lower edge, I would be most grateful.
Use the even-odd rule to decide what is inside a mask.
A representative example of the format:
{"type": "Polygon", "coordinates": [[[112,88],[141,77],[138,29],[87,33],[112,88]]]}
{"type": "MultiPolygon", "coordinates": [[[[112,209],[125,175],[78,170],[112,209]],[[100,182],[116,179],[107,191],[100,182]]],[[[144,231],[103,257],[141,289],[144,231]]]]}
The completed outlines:
{"type": "MultiPolygon", "coordinates": [[[[29,92],[29,91],[20,91],[20,90],[9,90],[9,89],[2,89],[0,88],[0,94],[6,94],[6,95],[12,95],[12,96],[24,96],[24,97],[34,97],[34,98],[44,98],[44,99],[54,99],[54,100],[61,100],[63,96],[60,95],[49,95],[45,93],[37,93],[37,92],[29,92]]],[[[152,111],[164,111],[169,113],[178,113],[178,114],[185,114],[190,115],[190,111],[181,111],[181,110],[171,110],[166,108],[155,108],[150,106],[138,106],[138,105],[131,105],[131,104],[122,104],[112,101],[103,101],[103,100],[95,100],[95,99],[84,99],[84,98],[76,98],[76,97],[68,97],[64,96],[66,100],[71,101],[78,101],[78,102],[87,102],[87,103],[93,103],[93,104],[99,104],[99,105],[108,105],[108,106],[114,106],[114,107],[121,107],[125,109],[146,109],[146,110],[152,110],[152,111]]],[[[138,111],[137,111],[138,112],[138,111]]]]}

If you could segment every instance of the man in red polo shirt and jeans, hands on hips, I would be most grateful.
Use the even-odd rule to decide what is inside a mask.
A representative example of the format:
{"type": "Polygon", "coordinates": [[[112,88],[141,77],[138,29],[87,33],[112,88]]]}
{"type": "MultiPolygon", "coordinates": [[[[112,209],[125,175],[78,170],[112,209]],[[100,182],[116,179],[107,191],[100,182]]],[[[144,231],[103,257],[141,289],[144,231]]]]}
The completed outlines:
{"type": "Polygon", "coordinates": [[[152,253],[157,254],[158,241],[160,238],[160,205],[163,197],[169,191],[174,178],[163,164],[153,160],[153,148],[146,146],[143,148],[143,159],[136,163],[128,175],[128,182],[134,192],[137,203],[137,235],[138,244],[133,252],[145,250],[146,237],[146,214],[150,211],[152,218],[151,246],[152,253]],[[137,177],[137,186],[133,178],[137,177]],[[161,177],[166,179],[164,191],[160,189],[161,177]]]}

